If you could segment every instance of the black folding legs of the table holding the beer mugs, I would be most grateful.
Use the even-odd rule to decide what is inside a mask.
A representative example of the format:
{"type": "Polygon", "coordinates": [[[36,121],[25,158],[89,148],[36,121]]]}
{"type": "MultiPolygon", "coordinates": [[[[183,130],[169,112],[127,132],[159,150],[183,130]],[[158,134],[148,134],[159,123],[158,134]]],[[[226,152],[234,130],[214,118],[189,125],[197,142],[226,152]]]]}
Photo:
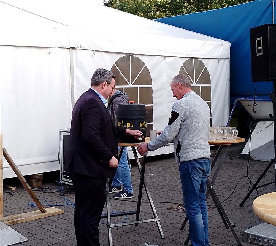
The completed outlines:
{"type": "MultiPolygon", "coordinates": [[[[225,159],[226,153],[227,153],[227,151],[228,151],[228,149],[230,147],[230,144],[224,144],[224,145],[226,145],[226,147],[225,147],[223,155],[222,155],[222,157],[221,157],[221,159],[220,159],[220,161],[218,163],[218,166],[217,166],[217,168],[215,170],[215,173],[214,173],[214,175],[212,177],[212,181],[210,181],[209,178],[207,178],[207,181],[206,181],[207,192],[205,194],[205,197],[206,197],[206,201],[207,201],[209,195],[211,195],[212,200],[213,200],[213,202],[214,202],[214,204],[215,204],[215,206],[216,206],[216,208],[218,210],[219,215],[221,216],[221,219],[222,219],[222,221],[223,221],[226,229],[230,229],[231,230],[234,238],[237,241],[237,244],[239,246],[242,246],[242,243],[240,242],[240,240],[239,240],[239,238],[238,238],[238,236],[237,236],[237,234],[236,234],[236,232],[234,231],[234,228],[233,228],[233,227],[235,227],[235,224],[226,215],[226,213],[225,213],[225,211],[224,211],[224,209],[223,209],[223,207],[221,205],[221,202],[219,201],[218,196],[217,196],[217,194],[216,194],[216,192],[215,192],[215,190],[213,188],[213,184],[215,183],[215,180],[216,180],[216,178],[218,176],[218,172],[221,169],[221,166],[223,164],[223,160],[225,159]]],[[[219,157],[219,155],[221,153],[221,150],[223,149],[224,145],[220,145],[219,146],[218,151],[217,151],[217,153],[215,155],[215,158],[214,158],[214,160],[213,160],[213,162],[211,164],[211,171],[213,170],[213,167],[215,166],[215,163],[216,163],[216,161],[217,161],[217,159],[218,159],[218,157],[219,157]]],[[[187,221],[188,221],[188,217],[186,215],[186,217],[185,217],[185,219],[184,219],[184,221],[182,223],[182,226],[180,227],[180,230],[184,229],[187,221]]],[[[183,244],[184,245],[188,245],[189,241],[190,241],[190,234],[188,234],[188,236],[187,236],[187,238],[186,238],[186,240],[185,240],[185,242],[183,244]]]]}

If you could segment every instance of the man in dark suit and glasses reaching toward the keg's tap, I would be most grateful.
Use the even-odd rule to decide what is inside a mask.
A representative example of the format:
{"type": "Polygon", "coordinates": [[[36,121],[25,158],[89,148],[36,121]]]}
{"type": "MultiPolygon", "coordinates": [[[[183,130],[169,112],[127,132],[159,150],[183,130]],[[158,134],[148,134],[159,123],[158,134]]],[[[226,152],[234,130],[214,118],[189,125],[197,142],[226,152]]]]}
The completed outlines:
{"type": "Polygon", "coordinates": [[[71,121],[64,165],[75,189],[75,234],[78,246],[99,246],[99,222],[105,203],[106,179],[118,166],[118,137],[142,135],[138,130],[115,127],[105,104],[116,76],[98,68],[91,88],[77,100],[71,121]]]}

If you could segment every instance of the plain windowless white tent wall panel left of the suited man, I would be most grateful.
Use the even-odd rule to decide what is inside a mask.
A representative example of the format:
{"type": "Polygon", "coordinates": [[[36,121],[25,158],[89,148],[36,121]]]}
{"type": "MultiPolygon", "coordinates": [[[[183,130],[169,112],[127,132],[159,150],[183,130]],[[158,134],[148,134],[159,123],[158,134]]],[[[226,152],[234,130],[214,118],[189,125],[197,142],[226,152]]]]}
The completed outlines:
{"type": "Polygon", "coordinates": [[[56,161],[58,129],[71,120],[69,49],[0,46],[0,53],[4,147],[18,165],[56,161]]]}

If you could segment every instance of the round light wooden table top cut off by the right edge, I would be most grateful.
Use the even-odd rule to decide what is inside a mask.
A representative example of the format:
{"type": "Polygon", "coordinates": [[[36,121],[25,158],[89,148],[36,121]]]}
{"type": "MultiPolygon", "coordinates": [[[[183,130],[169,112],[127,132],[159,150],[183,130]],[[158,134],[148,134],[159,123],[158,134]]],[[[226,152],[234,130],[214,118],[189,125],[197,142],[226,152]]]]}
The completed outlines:
{"type": "Polygon", "coordinates": [[[253,201],[252,207],[259,218],[276,226],[276,192],[257,197],[253,201]]]}

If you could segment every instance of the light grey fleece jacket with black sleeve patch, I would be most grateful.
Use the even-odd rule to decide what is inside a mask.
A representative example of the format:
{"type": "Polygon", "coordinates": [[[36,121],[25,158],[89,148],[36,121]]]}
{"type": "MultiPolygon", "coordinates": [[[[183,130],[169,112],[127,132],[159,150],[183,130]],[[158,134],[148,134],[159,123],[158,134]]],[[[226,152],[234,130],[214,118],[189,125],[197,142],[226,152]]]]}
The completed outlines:
{"type": "Polygon", "coordinates": [[[209,159],[209,126],[209,106],[195,92],[188,92],[173,104],[168,125],[155,140],[148,143],[148,148],[156,150],[174,139],[175,161],[209,159]]]}

